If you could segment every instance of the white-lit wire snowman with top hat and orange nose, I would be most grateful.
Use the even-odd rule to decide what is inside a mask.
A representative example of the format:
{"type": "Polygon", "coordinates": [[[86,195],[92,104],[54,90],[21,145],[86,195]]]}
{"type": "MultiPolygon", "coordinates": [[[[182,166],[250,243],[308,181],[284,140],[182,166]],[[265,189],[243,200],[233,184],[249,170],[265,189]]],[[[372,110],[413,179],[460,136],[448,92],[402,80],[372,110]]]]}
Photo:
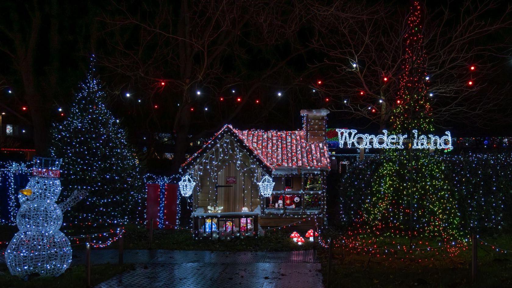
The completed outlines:
{"type": "Polygon", "coordinates": [[[75,191],[60,204],[60,159],[34,157],[27,188],[19,191],[21,207],[16,215],[19,232],[12,238],[5,259],[12,275],[58,276],[71,263],[71,244],[59,231],[62,212],[80,201],[87,192],[75,191]]]}

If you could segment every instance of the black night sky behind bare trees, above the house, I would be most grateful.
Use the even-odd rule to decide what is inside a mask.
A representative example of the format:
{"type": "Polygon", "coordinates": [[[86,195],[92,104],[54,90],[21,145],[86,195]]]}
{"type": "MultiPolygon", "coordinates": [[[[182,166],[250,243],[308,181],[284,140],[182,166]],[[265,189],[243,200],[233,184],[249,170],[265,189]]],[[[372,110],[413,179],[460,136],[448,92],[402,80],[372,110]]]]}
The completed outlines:
{"type": "MultiPolygon", "coordinates": [[[[301,109],[343,110],[343,100],[358,90],[354,89],[354,95],[342,90],[356,84],[346,77],[346,71],[340,72],[345,69],[340,68],[347,64],[345,60],[331,52],[333,45],[338,49],[350,46],[352,36],[345,35],[344,40],[336,25],[352,19],[352,27],[362,31],[367,27],[360,18],[347,16],[330,26],[312,12],[313,3],[300,7],[291,2],[255,3],[199,7],[194,1],[4,1],[0,4],[0,9],[6,11],[5,17],[0,18],[0,109],[7,114],[4,121],[37,122],[34,129],[48,133],[52,122],[66,117],[78,84],[86,77],[92,54],[97,58],[96,76],[109,95],[108,107],[122,119],[133,141],[143,134],[181,130],[193,139],[210,137],[226,123],[240,129],[295,130],[302,125],[301,109]],[[186,21],[184,14],[188,15],[186,21]],[[338,38],[339,41],[333,40],[338,38]],[[161,85],[162,81],[165,85],[161,85]],[[318,81],[322,84],[318,85],[318,81]],[[282,96],[278,96],[279,92],[282,96]],[[28,110],[22,110],[23,106],[28,110]]],[[[366,4],[368,9],[362,11],[386,7],[386,17],[396,24],[400,21],[395,19],[406,16],[409,4],[370,1],[366,4]]],[[[361,12],[354,8],[359,1],[315,5],[337,7],[347,14],[361,12]]],[[[452,28],[461,18],[474,13],[467,9],[471,4],[464,8],[459,3],[447,6],[443,1],[426,2],[426,37],[437,31],[434,23],[444,16],[437,10],[440,7],[447,7],[450,17],[445,24],[452,28]]],[[[500,97],[489,97],[494,106],[484,113],[465,117],[459,111],[453,118],[449,115],[439,119],[440,130],[450,129],[454,136],[510,136],[512,30],[505,7],[505,2],[498,3],[476,17],[484,23],[501,19],[503,25],[464,42],[466,51],[489,47],[486,52],[463,58],[460,63],[456,59],[446,62],[455,63],[454,71],[477,63],[478,71],[467,76],[477,83],[471,87],[478,97],[474,99],[485,103],[487,95],[500,97]],[[467,59],[474,62],[468,63],[467,59]],[[487,122],[499,118],[499,125],[471,125],[473,117],[490,119],[487,122]]],[[[379,22],[381,18],[375,19],[375,26],[385,25],[379,22]]],[[[393,29],[400,27],[391,27],[390,31],[393,29]]],[[[442,33],[450,35],[449,31],[442,33]]],[[[427,58],[436,53],[429,45],[425,45],[427,58]]],[[[399,50],[401,45],[397,43],[396,47],[399,50]]],[[[378,47],[375,51],[380,53],[378,47]]],[[[379,69],[365,58],[359,59],[358,64],[368,71],[379,69]]],[[[464,73],[454,72],[452,78],[466,81],[464,73]]],[[[391,77],[397,79],[398,75],[391,77]]],[[[378,89],[370,88],[372,93],[374,90],[378,89]]],[[[393,92],[389,93],[393,97],[393,92]]],[[[432,100],[436,105],[447,106],[452,97],[455,96],[437,96],[432,100]]],[[[369,100],[370,105],[374,102],[369,100]]],[[[331,112],[328,125],[375,132],[381,128],[375,115],[364,117],[347,111],[331,112]]],[[[41,136],[36,142],[38,150],[46,149],[48,137],[41,136]]]]}

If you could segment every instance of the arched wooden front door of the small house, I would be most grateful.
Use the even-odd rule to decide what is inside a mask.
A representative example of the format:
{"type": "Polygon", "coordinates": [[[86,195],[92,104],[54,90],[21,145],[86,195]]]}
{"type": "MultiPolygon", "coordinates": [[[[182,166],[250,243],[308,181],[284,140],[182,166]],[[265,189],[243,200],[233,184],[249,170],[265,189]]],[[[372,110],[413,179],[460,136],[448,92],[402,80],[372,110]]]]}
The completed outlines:
{"type": "MultiPolygon", "coordinates": [[[[219,172],[217,184],[232,186],[219,187],[217,189],[217,205],[224,207],[222,212],[242,211],[242,207],[244,207],[244,178],[245,177],[234,163],[227,164],[227,166],[219,172]]],[[[250,201],[250,196],[248,201],[250,201]]]]}

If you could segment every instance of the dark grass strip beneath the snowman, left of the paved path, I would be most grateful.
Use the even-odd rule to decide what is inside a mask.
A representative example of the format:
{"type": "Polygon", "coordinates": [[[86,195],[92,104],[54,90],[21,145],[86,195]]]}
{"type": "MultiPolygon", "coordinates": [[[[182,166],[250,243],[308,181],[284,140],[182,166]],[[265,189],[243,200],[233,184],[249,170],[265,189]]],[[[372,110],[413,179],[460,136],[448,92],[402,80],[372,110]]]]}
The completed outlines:
{"type": "MultiPolygon", "coordinates": [[[[3,256],[3,255],[2,255],[3,256]]],[[[91,267],[91,285],[97,285],[114,277],[116,274],[130,269],[132,264],[100,264],[91,267]]],[[[39,277],[24,281],[11,276],[5,263],[0,265],[0,287],[9,288],[79,288],[86,287],[86,266],[71,265],[59,277],[39,277]]]]}

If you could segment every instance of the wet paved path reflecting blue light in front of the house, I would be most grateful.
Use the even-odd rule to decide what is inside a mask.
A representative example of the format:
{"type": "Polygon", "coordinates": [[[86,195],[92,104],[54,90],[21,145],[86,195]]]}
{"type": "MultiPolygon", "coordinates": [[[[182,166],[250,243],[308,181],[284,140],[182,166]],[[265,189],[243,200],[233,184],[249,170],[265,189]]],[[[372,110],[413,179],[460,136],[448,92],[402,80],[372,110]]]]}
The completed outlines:
{"type": "MultiPolygon", "coordinates": [[[[82,251],[73,262],[84,262],[82,251]]],[[[116,263],[116,250],[93,250],[92,263],[116,263]]],[[[210,252],[125,250],[135,269],[97,288],[322,288],[320,264],[312,250],[294,252],[210,252]]]]}

